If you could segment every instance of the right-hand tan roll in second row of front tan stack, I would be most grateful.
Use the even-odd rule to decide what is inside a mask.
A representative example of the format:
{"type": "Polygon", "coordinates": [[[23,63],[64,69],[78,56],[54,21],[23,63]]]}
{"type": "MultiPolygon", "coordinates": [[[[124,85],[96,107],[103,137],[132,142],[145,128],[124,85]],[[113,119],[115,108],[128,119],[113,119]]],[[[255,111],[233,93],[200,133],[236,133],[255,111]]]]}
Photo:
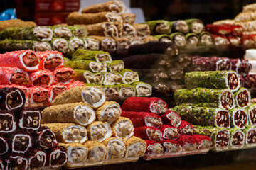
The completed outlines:
{"type": "Polygon", "coordinates": [[[97,120],[107,122],[109,125],[121,115],[121,108],[117,102],[106,101],[96,110],[97,120]]]}

